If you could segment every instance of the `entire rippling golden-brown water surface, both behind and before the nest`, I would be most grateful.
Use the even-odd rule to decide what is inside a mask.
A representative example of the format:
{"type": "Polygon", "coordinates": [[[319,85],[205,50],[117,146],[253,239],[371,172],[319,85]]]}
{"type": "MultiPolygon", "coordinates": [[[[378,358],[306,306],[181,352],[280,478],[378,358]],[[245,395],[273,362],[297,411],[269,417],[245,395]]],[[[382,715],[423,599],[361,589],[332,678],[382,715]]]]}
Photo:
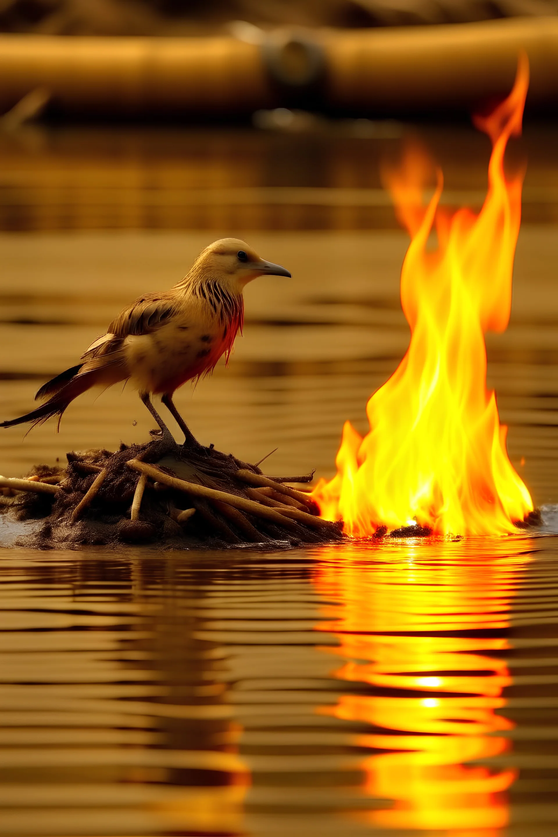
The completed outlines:
{"type": "MultiPolygon", "coordinates": [[[[421,134],[450,198],[489,146],[421,134]]],[[[396,131],[397,133],[397,131],[396,131]]],[[[557,531],[558,163],[531,127],[509,330],[489,377],[509,452],[557,531]],[[522,464],[523,463],[523,464],[522,464]]],[[[38,131],[0,137],[0,393],[27,410],[143,290],[207,241],[248,239],[293,280],[246,291],[229,369],[178,395],[203,442],[333,472],[345,419],[408,340],[407,246],[378,177],[397,136],[38,131]]],[[[0,436],[20,475],[145,439],[135,393],[0,436]],[[134,425],[133,422],[136,422],[134,425]]],[[[553,835],[558,550],[549,534],[294,550],[0,552],[0,834],[553,835]]]]}

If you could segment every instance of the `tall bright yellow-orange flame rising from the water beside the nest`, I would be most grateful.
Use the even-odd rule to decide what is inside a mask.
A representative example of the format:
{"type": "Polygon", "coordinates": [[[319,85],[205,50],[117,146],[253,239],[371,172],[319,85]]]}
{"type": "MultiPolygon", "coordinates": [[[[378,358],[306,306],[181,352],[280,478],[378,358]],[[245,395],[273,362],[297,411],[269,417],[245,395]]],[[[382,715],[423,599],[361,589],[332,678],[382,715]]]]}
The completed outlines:
{"type": "Polygon", "coordinates": [[[346,534],[425,526],[439,535],[504,535],[533,510],[511,465],[507,428],[486,386],[486,331],[504,331],[511,306],[523,172],[504,176],[504,151],[521,131],[529,64],[520,56],[509,97],[475,124],[493,142],[489,189],[479,215],[438,206],[442,172],[427,208],[429,164],[408,151],[387,182],[412,241],[402,266],[402,309],[411,341],[396,372],[366,405],[364,439],[346,422],[337,474],[313,492],[320,513],[346,534]],[[427,249],[433,231],[438,249],[427,249]]]}

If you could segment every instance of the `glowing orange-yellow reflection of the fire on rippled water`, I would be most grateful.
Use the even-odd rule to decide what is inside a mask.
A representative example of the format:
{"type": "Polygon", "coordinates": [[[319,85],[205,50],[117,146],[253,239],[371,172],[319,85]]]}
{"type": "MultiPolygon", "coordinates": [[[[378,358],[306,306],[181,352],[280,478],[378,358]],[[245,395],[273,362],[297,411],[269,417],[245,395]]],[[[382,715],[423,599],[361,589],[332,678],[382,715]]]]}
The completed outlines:
{"type": "Polygon", "coordinates": [[[334,603],[317,626],[339,639],[325,649],[343,659],[334,674],[369,686],[319,711],[371,725],[353,737],[371,750],[362,790],[393,800],[358,814],[375,827],[493,837],[509,821],[516,771],[474,762],[510,747],[514,724],[499,714],[511,684],[506,634],[530,558],[525,539],[489,542],[481,554],[463,544],[392,544],[366,561],[362,547],[342,562],[331,551],[316,573],[334,603]]]}

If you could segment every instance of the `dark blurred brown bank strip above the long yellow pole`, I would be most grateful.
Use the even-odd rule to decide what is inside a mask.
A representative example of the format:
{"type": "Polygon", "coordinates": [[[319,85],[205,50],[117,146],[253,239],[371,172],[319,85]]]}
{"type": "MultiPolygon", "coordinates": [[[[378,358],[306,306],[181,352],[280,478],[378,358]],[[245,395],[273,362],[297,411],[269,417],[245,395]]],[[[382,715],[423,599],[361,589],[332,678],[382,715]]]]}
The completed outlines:
{"type": "Polygon", "coordinates": [[[360,28],[554,15],[555,0],[5,0],[4,32],[57,35],[197,35],[231,20],[360,28]]]}

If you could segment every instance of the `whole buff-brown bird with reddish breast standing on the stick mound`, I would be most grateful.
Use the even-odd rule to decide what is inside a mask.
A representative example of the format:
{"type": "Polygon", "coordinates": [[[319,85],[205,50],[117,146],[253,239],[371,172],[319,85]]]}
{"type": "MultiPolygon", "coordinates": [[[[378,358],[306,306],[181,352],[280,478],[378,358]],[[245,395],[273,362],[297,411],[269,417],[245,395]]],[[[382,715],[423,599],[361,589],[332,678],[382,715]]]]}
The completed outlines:
{"type": "Polygon", "coordinates": [[[241,239],[214,241],[177,285],[143,295],[120,311],[79,363],[38,390],[35,401],[47,398],[40,407],[3,421],[0,427],[35,426],[58,416],[59,429],[74,398],[95,386],[130,380],[167,441],[174,444],[151,403],[152,395],[161,395],[161,403],[184,434],[184,444],[201,447],[172,396],[183,383],[210,374],[223,355],[228,362],[234,339],[243,330],[244,286],[262,275],[291,277],[280,264],[260,259],[241,239]]]}

